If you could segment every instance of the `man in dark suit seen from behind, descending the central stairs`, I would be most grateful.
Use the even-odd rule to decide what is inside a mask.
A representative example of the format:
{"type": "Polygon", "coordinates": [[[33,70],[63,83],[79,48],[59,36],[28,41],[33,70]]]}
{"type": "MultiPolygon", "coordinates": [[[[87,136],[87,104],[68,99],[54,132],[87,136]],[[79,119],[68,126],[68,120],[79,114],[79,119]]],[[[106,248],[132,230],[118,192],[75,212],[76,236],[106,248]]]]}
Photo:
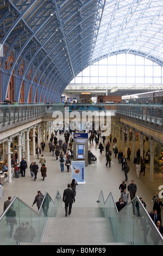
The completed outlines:
{"type": "Polygon", "coordinates": [[[71,214],[73,202],[74,203],[76,202],[76,199],[74,198],[74,192],[71,189],[71,184],[70,183],[67,184],[67,189],[64,190],[62,200],[65,203],[65,217],[67,217],[67,215],[71,214]]]}

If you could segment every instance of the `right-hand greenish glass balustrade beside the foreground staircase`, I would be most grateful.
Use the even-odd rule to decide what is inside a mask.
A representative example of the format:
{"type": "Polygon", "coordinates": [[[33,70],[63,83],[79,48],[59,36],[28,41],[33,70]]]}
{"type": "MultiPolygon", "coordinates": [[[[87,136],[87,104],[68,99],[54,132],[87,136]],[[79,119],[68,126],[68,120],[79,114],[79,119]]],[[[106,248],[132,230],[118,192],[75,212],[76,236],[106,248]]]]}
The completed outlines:
{"type": "Polygon", "coordinates": [[[98,206],[103,217],[108,217],[116,242],[133,242],[135,245],[163,245],[163,239],[140,199],[136,197],[120,212],[110,193],[104,202],[101,192],[98,206]]]}

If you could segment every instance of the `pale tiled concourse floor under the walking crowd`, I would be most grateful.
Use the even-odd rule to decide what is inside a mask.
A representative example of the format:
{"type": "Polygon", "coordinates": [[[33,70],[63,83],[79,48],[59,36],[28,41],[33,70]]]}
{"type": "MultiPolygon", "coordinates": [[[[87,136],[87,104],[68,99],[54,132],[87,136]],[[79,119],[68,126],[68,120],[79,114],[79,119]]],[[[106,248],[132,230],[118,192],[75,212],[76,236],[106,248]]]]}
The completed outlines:
{"type": "MultiPolygon", "coordinates": [[[[64,137],[61,136],[63,139],[64,137]]],[[[106,138],[106,142],[108,138],[106,138]]],[[[102,141],[102,139],[101,139],[102,141]]],[[[132,149],[132,142],[129,142],[129,147],[132,149]]],[[[118,143],[117,143],[118,144],[118,143]]],[[[32,148],[32,146],[31,146],[32,148]]],[[[139,148],[139,142],[136,142],[136,149],[139,148]]],[[[118,189],[119,185],[124,180],[124,173],[121,170],[121,164],[118,164],[118,160],[115,159],[115,156],[112,155],[112,164],[111,167],[105,166],[105,153],[99,153],[98,145],[93,142],[89,145],[89,149],[93,154],[97,156],[97,164],[92,163],[85,168],[85,184],[80,184],[77,186],[77,196],[76,203],[73,204],[73,208],[94,208],[97,207],[97,199],[101,190],[104,194],[104,199],[106,199],[110,192],[112,192],[115,201],[120,198],[120,190],[118,189]]],[[[120,149],[120,147],[118,147],[120,149]]],[[[145,151],[148,150],[148,144],[145,143],[145,151]]],[[[124,154],[126,154],[127,149],[124,148],[124,154]]],[[[3,212],[3,203],[7,200],[8,196],[14,198],[15,196],[19,197],[23,202],[26,202],[29,206],[32,206],[34,197],[37,194],[37,190],[41,190],[44,194],[46,191],[52,197],[55,198],[55,193],[57,189],[59,190],[61,196],[67,184],[72,180],[72,173],[67,173],[66,167],[65,172],[61,173],[60,163],[52,157],[52,153],[49,153],[48,143],[46,143],[45,151],[43,155],[46,157],[46,166],[47,166],[47,178],[45,181],[42,181],[41,172],[37,174],[37,180],[34,181],[33,178],[30,178],[29,168],[26,170],[26,177],[21,177],[16,179],[12,178],[10,184],[4,184],[4,198],[0,199],[0,213],[3,212]]],[[[30,155],[30,162],[36,161],[39,164],[39,160],[36,159],[33,155],[30,155]]],[[[142,197],[146,202],[147,211],[153,208],[153,203],[151,202],[152,197],[155,192],[158,191],[158,187],[162,185],[163,179],[162,174],[154,174],[154,182],[149,182],[149,166],[146,165],[146,176],[140,175],[138,179],[136,177],[136,168],[133,162],[129,162],[130,172],[128,174],[127,185],[134,179],[135,184],[137,185],[137,196],[142,197]]],[[[39,164],[39,167],[40,164],[39,164]]],[[[72,208],[72,211],[73,211],[72,208]]],[[[36,205],[33,206],[33,209],[37,211],[36,205]]],[[[64,207],[63,207],[64,215],[64,207]]]]}

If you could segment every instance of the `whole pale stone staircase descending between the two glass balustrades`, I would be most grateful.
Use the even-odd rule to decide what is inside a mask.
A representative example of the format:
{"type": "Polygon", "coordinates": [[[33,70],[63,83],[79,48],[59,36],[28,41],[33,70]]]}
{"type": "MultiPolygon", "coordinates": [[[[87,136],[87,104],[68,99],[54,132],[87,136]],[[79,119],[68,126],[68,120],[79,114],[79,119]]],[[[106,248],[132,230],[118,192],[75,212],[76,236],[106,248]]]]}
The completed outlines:
{"type": "Polygon", "coordinates": [[[67,217],[65,217],[65,209],[60,208],[57,217],[48,218],[40,245],[131,245],[131,243],[114,243],[109,218],[101,217],[99,208],[73,207],[72,214],[67,217]]]}

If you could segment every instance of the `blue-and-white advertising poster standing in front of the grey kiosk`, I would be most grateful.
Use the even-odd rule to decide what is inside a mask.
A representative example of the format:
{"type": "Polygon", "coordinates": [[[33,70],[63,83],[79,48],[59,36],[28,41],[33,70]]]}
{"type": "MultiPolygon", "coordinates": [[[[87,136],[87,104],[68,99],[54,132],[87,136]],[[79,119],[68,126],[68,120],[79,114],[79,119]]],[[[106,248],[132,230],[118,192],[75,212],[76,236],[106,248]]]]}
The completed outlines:
{"type": "Polygon", "coordinates": [[[72,161],[72,179],[76,179],[78,184],[85,183],[85,161],[72,161]]]}

